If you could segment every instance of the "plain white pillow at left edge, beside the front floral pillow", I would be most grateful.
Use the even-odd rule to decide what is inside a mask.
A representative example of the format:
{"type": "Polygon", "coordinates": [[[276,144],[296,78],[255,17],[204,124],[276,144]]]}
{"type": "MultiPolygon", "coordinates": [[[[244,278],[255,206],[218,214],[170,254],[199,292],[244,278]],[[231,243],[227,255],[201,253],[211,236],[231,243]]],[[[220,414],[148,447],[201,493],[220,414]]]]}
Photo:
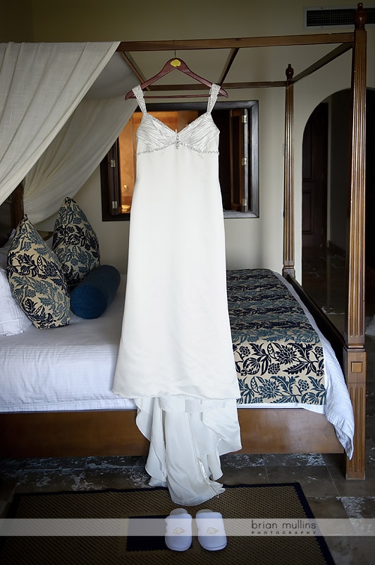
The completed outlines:
{"type": "Polygon", "coordinates": [[[0,335],[23,333],[29,326],[31,320],[13,298],[6,270],[0,267],[0,335]]]}

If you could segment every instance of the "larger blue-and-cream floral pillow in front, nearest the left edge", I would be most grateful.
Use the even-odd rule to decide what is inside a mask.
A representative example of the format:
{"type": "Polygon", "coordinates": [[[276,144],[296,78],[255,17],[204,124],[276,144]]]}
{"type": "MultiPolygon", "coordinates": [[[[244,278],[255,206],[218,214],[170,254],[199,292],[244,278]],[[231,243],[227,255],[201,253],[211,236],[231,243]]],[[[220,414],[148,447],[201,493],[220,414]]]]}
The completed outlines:
{"type": "Polygon", "coordinates": [[[12,294],[35,327],[69,323],[70,296],[63,270],[27,215],[13,237],[7,270],[12,294]]]}

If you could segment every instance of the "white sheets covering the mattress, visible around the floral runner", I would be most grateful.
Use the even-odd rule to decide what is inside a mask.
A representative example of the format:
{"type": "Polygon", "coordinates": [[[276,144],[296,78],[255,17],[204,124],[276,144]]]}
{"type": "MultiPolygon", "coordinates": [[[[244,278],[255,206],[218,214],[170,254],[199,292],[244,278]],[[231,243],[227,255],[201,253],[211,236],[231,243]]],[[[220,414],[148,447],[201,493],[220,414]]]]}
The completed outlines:
{"type": "MultiPolygon", "coordinates": [[[[300,302],[293,287],[278,276],[300,302]]],[[[111,391],[124,297],[122,275],[116,297],[99,319],[85,320],[73,315],[70,325],[63,328],[41,330],[30,326],[18,335],[1,335],[0,412],[135,409],[133,400],[111,391]]],[[[262,404],[239,408],[305,408],[324,413],[351,457],[354,417],[343,373],[331,345],[306,308],[305,311],[324,348],[326,405],[262,404]]]]}

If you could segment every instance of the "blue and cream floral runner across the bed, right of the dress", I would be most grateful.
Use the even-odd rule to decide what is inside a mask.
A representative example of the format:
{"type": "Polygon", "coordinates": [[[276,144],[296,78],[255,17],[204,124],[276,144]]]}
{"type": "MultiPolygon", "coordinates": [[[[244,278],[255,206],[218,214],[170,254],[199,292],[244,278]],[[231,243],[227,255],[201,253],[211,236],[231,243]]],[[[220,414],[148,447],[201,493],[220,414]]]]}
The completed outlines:
{"type": "Polygon", "coordinates": [[[288,288],[268,269],[230,270],[227,284],[238,404],[324,405],[323,348],[288,288]]]}

